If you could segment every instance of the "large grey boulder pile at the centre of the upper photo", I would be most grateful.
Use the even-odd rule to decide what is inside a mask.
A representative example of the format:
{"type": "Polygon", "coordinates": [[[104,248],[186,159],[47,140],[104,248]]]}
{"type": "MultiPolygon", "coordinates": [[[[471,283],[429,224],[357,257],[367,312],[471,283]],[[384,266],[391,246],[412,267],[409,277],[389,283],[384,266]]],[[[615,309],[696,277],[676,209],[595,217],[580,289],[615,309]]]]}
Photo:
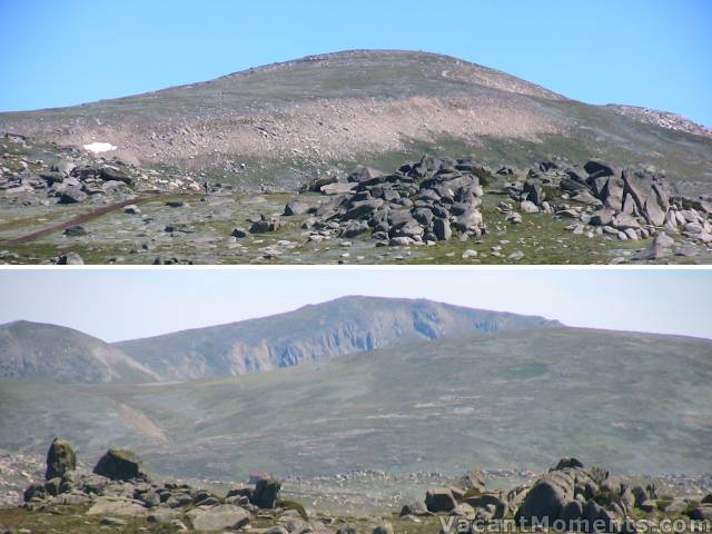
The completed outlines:
{"type": "MultiPolygon", "coordinates": [[[[453,235],[478,238],[485,231],[478,209],[485,176],[488,169],[471,158],[425,156],[390,174],[358,167],[345,182],[322,178],[305,188],[329,198],[309,210],[304,228],[315,236],[370,234],[390,246],[443,241],[453,235]]],[[[285,215],[294,212],[290,202],[285,215]]]]}

